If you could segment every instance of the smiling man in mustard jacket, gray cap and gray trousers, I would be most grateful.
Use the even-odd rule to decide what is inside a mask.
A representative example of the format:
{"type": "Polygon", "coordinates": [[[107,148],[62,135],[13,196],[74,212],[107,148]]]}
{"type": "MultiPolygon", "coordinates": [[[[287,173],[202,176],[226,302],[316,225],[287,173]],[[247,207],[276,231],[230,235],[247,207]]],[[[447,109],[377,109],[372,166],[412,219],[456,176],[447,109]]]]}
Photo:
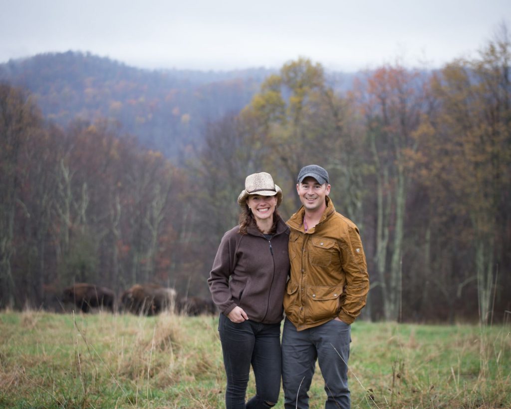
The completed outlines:
{"type": "Polygon", "coordinates": [[[330,188],[325,169],[302,168],[296,190],[303,206],[287,221],[291,277],[284,295],[282,378],[288,409],[309,407],[316,359],[325,407],[350,407],[350,325],[365,305],[369,278],[357,226],[335,211],[330,188]]]}

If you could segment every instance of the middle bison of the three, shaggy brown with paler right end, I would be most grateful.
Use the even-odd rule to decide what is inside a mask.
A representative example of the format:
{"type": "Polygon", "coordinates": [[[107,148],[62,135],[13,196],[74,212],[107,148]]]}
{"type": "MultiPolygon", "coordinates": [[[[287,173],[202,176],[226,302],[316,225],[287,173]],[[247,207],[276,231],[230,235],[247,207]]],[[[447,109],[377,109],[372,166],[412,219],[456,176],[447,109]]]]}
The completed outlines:
{"type": "Polygon", "coordinates": [[[156,315],[173,310],[176,299],[174,288],[156,284],[135,284],[121,294],[121,308],[134,314],[156,315]]]}

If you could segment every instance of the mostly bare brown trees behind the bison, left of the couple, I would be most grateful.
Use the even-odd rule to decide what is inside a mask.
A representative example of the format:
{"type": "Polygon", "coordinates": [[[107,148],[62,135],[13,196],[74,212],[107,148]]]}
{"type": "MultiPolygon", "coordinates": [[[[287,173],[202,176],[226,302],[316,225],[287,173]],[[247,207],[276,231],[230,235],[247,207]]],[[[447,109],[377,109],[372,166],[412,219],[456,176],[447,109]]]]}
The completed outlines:
{"type": "Polygon", "coordinates": [[[0,306],[38,306],[74,282],[177,284],[182,171],[107,121],[48,124],[8,85],[0,118],[0,306]]]}

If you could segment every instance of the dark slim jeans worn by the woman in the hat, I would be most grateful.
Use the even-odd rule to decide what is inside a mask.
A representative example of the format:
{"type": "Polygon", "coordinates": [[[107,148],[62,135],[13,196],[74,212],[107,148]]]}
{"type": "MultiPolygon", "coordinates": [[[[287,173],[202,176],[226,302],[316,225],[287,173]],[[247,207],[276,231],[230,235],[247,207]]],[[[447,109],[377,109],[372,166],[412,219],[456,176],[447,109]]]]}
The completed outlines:
{"type": "Polygon", "coordinates": [[[227,388],[225,407],[266,408],[277,403],[281,390],[281,324],[231,322],[220,314],[218,323],[227,388]],[[245,406],[250,365],[255,376],[255,396],[245,406]]]}

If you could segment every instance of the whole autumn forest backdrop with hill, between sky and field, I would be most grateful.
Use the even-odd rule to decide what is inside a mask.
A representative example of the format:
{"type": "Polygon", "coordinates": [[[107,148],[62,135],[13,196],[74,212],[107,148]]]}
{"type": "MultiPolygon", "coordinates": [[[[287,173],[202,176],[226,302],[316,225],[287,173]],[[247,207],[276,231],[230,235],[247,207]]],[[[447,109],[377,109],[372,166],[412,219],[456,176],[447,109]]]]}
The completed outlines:
{"type": "Polygon", "coordinates": [[[56,295],[74,282],[207,296],[246,175],[273,175],[286,219],[299,205],[299,169],[315,163],[330,173],[336,210],[361,232],[371,282],[364,319],[490,323],[509,314],[505,30],[477,58],[434,71],[382,65],[342,90],[307,58],[186,92],[176,85],[184,77],[133,69],[122,79],[107,60],[110,71],[54,72],[60,80],[45,83],[50,65],[33,71],[37,79],[20,69],[38,58],[65,58],[67,68],[98,61],[66,53],[1,67],[0,307],[58,310],[56,295]],[[150,103],[148,81],[159,89],[150,103]],[[117,100],[114,89],[131,95],[117,100]],[[217,111],[192,132],[204,100],[217,111]],[[47,105],[56,101],[68,109],[55,113],[47,105]],[[134,132],[144,124],[147,140],[134,132]]]}

